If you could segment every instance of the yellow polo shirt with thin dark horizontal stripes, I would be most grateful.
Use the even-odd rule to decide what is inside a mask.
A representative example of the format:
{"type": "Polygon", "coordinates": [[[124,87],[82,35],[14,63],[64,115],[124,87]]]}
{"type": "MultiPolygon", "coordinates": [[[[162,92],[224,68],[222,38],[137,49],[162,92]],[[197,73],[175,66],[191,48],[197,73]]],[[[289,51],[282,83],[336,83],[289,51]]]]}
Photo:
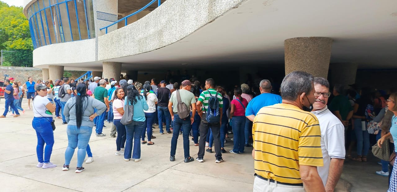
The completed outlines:
{"type": "Polygon", "coordinates": [[[312,113],[290,104],[263,107],[252,127],[255,173],[278,182],[302,183],[299,165],[323,166],[321,131],[312,113]]]}

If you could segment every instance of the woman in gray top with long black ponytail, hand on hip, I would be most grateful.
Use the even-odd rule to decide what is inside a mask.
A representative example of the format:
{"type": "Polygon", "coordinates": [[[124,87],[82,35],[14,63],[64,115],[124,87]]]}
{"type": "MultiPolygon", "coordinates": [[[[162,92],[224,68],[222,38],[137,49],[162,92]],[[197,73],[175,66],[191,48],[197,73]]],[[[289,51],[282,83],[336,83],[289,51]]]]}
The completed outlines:
{"type": "Polygon", "coordinates": [[[75,172],[81,173],[84,171],[82,165],[85,159],[86,148],[93,132],[93,119],[105,112],[106,105],[87,95],[87,86],[85,83],[79,83],[76,90],[77,95],[69,99],[64,108],[69,143],[65,151],[65,164],[62,170],[69,170],[70,160],[73,157],[75,148],[78,147],[75,172]],[[94,113],[94,108],[97,109],[96,113],[94,113]]]}

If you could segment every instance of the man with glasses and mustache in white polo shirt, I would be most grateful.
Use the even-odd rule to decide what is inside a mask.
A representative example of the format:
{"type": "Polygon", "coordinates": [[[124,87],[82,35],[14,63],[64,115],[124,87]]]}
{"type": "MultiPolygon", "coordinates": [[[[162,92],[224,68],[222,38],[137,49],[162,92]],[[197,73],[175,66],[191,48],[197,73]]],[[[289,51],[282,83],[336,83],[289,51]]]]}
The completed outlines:
{"type": "Polygon", "coordinates": [[[318,174],[327,192],[334,191],[341,177],[345,159],[345,127],[328,109],[327,102],[331,96],[330,83],[322,77],[314,78],[314,100],[312,113],[320,122],[321,150],[324,166],[318,167],[318,174]]]}

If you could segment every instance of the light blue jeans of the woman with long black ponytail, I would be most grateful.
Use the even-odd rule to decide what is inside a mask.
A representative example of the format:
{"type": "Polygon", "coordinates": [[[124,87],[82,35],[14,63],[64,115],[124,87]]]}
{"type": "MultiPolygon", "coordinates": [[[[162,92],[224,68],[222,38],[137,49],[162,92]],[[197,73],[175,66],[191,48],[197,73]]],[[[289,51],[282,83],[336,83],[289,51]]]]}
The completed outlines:
{"type": "Polygon", "coordinates": [[[67,125],[66,133],[69,142],[65,151],[65,165],[70,164],[70,160],[72,159],[75,148],[77,147],[79,148],[77,150],[77,167],[83,166],[87,145],[90,141],[92,132],[93,128],[89,126],[80,126],[80,128],[77,128],[76,125],[67,125]]]}

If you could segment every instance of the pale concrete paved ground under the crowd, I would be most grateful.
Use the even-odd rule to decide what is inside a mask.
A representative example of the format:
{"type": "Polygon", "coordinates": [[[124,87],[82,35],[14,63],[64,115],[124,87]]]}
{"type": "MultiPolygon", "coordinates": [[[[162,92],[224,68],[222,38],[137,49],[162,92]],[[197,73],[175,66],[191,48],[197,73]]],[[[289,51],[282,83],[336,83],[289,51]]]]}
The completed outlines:
{"type": "MultiPolygon", "coordinates": [[[[23,108],[27,108],[24,99],[23,108]]],[[[0,101],[3,112],[4,99],[0,101]]],[[[104,129],[106,137],[91,136],[90,146],[94,162],[83,164],[85,171],[74,173],[77,154],[71,161],[71,170],[62,171],[67,147],[66,125],[56,119],[52,169],[37,168],[36,132],[31,126],[33,111],[25,115],[0,119],[0,180],[2,191],[252,191],[252,148],[246,154],[223,155],[224,162],[215,163],[214,153],[206,153],[204,163],[183,162],[181,137],[178,140],[175,161],[169,161],[171,134],[158,134],[152,146],[142,145],[142,161],[123,161],[115,156],[115,138],[110,138],[110,124],[104,129]]],[[[230,135],[232,136],[232,135],[230,135]]],[[[231,149],[228,140],[225,149],[231,149]]],[[[197,157],[198,147],[190,142],[190,154],[197,157]]],[[[374,157],[369,162],[346,161],[342,179],[336,191],[386,191],[387,178],[375,175],[380,170],[374,157]]]]}

